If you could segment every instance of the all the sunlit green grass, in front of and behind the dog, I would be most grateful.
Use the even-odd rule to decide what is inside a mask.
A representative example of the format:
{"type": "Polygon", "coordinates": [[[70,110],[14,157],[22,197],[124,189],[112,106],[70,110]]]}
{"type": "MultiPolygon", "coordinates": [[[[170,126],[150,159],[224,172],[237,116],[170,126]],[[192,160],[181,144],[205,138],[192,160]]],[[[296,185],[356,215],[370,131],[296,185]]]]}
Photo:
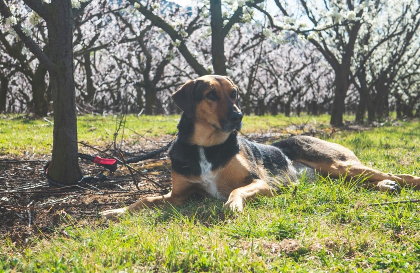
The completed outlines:
{"type": "MultiPolygon", "coordinates": [[[[158,136],[174,133],[176,119],[127,117],[126,126],[138,133],[151,129],[149,136],[158,136]]],[[[244,126],[251,133],[299,120],[306,121],[249,117],[244,126]]],[[[327,117],[315,121],[324,124],[321,132],[331,131],[327,117]]],[[[44,151],[40,147],[48,142],[50,129],[35,126],[44,121],[0,122],[2,153],[20,155],[19,145],[31,144],[17,132],[25,131],[28,137],[38,130],[42,133],[33,136],[32,143],[44,151]],[[9,147],[18,148],[7,150],[4,138],[13,131],[9,147]]],[[[80,117],[79,122],[79,138],[90,143],[107,142],[115,128],[115,117],[80,117]],[[87,131],[92,126],[97,127],[94,136],[87,131]]],[[[352,149],[367,165],[419,175],[419,132],[415,120],[320,136],[352,149]]],[[[419,192],[410,189],[395,196],[319,178],[314,184],[300,183],[294,196],[290,189],[273,198],[260,197],[236,216],[220,201],[206,198],[179,208],[144,210],[116,222],[89,218],[69,225],[74,220],[68,218],[56,235],[34,237],[25,248],[2,238],[0,271],[419,272],[420,204],[366,205],[416,198],[419,192]]]]}

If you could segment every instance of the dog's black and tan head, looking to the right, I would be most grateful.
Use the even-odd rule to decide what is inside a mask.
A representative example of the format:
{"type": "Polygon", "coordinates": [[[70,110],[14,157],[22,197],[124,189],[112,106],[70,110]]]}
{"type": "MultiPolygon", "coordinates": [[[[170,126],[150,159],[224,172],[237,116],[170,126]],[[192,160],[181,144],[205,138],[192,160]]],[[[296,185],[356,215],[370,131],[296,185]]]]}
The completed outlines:
{"type": "Polygon", "coordinates": [[[187,81],[172,94],[172,99],[188,118],[207,122],[222,132],[231,132],[242,128],[238,93],[238,86],[231,79],[206,75],[187,81]]]}

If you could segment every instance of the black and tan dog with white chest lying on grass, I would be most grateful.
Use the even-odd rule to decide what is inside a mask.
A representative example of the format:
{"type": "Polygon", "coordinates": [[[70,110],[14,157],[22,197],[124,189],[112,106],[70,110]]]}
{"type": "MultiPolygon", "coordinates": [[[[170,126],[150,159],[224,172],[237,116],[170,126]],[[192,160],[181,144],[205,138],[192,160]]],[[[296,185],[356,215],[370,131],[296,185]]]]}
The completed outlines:
{"type": "Polygon", "coordinates": [[[220,198],[241,212],[246,200],[273,196],[303,174],[310,180],[316,174],[346,180],[365,176],[365,187],[387,193],[400,193],[404,185],[420,188],[420,177],[369,168],[343,146],[314,137],[293,136],[271,145],[238,137],[243,117],[238,94],[238,86],[224,76],[207,75],[182,85],[171,96],[183,111],[169,151],[172,191],[100,214],[112,218],[165,203],[178,206],[196,193],[220,198]]]}

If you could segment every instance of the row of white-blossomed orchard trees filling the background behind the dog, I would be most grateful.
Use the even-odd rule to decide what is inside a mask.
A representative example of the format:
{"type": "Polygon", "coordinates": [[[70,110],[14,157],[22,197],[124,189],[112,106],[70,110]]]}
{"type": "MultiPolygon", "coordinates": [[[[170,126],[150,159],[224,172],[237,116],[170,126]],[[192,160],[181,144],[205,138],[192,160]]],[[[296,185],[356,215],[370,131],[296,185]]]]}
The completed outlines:
{"type": "MultiPolygon", "coordinates": [[[[48,4],[0,0],[1,112],[53,112],[54,64],[34,52],[62,46],[39,8],[48,4]]],[[[220,74],[241,88],[246,114],[329,113],[333,125],[345,111],[358,123],[420,115],[417,0],[72,0],[70,9],[72,33],[57,35],[71,39],[81,112],[176,113],[170,93],[220,74]]]]}

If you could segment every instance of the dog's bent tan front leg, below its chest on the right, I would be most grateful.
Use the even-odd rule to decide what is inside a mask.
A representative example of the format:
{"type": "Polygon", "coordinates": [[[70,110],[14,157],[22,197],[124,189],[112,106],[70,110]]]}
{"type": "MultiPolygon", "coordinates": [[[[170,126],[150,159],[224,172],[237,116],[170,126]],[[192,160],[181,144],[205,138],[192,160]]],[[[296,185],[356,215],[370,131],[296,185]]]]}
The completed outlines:
{"type": "Polygon", "coordinates": [[[233,190],[225,206],[232,211],[242,212],[247,199],[253,199],[256,195],[273,196],[270,186],[261,179],[255,179],[251,184],[233,190]]]}

